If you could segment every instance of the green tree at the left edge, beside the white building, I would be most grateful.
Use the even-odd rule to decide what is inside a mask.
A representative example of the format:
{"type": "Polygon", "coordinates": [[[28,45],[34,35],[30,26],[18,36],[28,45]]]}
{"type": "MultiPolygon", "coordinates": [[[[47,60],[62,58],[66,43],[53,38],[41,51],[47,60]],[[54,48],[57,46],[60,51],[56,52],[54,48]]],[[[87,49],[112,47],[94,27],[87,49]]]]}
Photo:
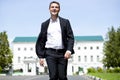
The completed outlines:
{"type": "Polygon", "coordinates": [[[9,68],[12,64],[12,52],[6,32],[0,32],[0,67],[9,68]]]}

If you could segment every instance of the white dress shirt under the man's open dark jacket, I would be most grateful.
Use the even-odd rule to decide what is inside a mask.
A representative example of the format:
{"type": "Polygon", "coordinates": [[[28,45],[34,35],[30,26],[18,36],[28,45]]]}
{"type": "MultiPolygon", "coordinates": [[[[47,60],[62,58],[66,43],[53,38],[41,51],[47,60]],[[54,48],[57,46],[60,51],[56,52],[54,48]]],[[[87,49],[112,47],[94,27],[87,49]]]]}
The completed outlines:
{"type": "Polygon", "coordinates": [[[47,30],[46,48],[63,49],[62,33],[59,18],[55,21],[50,19],[47,30]]]}

